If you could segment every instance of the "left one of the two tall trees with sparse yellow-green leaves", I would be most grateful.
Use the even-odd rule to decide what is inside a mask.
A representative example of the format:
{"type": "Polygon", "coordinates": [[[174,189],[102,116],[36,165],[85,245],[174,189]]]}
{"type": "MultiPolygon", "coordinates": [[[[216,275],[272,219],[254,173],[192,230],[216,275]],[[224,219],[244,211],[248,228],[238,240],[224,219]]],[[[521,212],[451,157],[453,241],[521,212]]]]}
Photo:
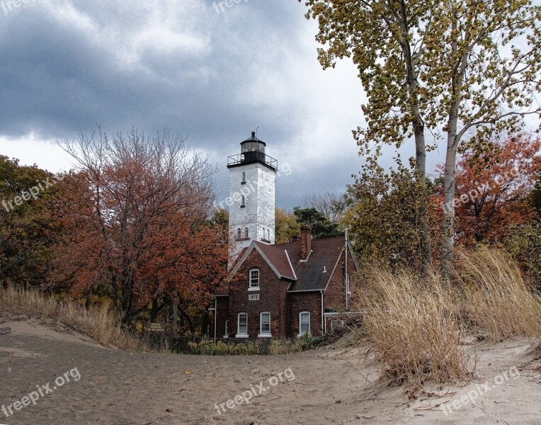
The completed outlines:
{"type": "MultiPolygon", "coordinates": [[[[414,137],[415,174],[423,184],[427,152],[419,79],[423,34],[415,35],[430,2],[305,0],[305,4],[306,17],[319,23],[316,40],[324,46],[318,49],[321,66],[335,67],[336,60],[351,57],[358,67],[368,98],[362,106],[367,126],[353,131],[359,154],[372,154],[369,159],[376,169],[383,143],[399,148],[407,137],[414,137]]],[[[423,261],[430,263],[427,205],[425,200],[419,226],[423,261]]]]}

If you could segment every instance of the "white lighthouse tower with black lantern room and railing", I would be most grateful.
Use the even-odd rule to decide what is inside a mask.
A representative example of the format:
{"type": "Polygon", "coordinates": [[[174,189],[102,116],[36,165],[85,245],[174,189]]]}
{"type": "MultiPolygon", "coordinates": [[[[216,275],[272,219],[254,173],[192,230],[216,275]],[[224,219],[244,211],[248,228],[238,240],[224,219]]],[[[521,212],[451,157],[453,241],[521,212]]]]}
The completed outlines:
{"type": "Polygon", "coordinates": [[[256,132],[241,142],[241,153],[228,158],[229,232],[235,239],[232,258],[253,240],[274,244],[275,179],[278,161],[265,153],[256,132]]]}

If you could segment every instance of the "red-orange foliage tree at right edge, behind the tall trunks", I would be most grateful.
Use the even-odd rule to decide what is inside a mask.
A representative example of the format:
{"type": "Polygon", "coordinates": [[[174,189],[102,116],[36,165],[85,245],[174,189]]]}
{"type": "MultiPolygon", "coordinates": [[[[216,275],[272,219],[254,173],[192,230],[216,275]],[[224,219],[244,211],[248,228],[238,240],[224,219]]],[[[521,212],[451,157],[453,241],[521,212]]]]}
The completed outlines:
{"type": "Polygon", "coordinates": [[[457,163],[453,205],[459,243],[471,246],[504,237],[511,225],[533,220],[528,203],[541,169],[540,140],[528,135],[493,141],[482,156],[469,149],[457,163]]]}

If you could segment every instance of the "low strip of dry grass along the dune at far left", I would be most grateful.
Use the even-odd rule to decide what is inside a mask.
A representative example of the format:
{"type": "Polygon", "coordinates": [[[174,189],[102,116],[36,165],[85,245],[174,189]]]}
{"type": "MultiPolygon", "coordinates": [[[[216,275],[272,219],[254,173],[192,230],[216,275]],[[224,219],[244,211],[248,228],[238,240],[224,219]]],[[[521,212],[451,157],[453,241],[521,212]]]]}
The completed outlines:
{"type": "Polygon", "coordinates": [[[0,286],[0,312],[2,311],[44,320],[55,319],[66,327],[91,336],[103,346],[137,348],[137,341],[120,329],[118,317],[108,304],[94,310],[86,310],[73,301],[56,302],[37,290],[12,286],[4,289],[0,286]]]}

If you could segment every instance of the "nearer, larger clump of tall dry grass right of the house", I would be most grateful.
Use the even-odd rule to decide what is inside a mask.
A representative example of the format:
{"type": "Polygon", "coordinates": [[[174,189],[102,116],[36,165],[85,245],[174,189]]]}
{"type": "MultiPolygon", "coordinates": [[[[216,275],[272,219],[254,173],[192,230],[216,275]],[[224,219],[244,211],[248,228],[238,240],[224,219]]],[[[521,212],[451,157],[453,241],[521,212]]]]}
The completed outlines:
{"type": "Polygon", "coordinates": [[[377,270],[363,290],[364,331],[387,385],[466,379],[472,362],[460,347],[452,295],[433,274],[420,283],[410,273],[377,270]]]}

